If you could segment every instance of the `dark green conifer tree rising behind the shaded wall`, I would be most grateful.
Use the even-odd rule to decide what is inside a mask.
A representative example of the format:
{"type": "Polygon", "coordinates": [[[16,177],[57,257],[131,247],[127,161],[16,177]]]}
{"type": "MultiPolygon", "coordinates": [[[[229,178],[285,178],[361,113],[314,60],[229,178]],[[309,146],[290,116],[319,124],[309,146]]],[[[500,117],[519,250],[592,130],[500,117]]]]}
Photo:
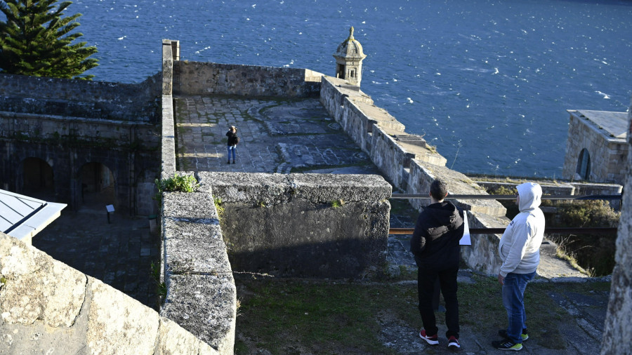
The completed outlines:
{"type": "Polygon", "coordinates": [[[72,43],[83,36],[72,32],[79,26],[80,13],[63,18],[71,1],[0,0],[0,11],[6,21],[0,21],[0,70],[6,74],[48,76],[55,78],[91,79],[80,76],[96,67],[88,58],[97,52],[86,42],[72,43]]]}

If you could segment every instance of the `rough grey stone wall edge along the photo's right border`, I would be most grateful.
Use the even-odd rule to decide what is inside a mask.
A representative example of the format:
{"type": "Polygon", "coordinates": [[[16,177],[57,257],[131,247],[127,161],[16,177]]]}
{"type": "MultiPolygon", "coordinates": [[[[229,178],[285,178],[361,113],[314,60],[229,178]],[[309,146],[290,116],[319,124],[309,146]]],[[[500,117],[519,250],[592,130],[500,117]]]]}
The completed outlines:
{"type": "MultiPolygon", "coordinates": [[[[628,111],[628,149],[632,145],[632,109],[628,111]]],[[[628,155],[624,189],[632,191],[632,154],[628,155]]],[[[632,194],[624,194],[619,232],[617,236],[616,264],[612,272],[610,302],[606,315],[601,354],[632,354],[632,194]]]]}

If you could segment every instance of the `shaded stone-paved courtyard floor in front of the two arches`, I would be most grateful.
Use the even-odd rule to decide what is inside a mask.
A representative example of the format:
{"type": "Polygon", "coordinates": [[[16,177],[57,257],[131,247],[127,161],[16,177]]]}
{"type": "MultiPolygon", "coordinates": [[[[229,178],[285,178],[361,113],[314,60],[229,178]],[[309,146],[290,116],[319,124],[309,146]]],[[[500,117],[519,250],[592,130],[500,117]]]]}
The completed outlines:
{"type": "Polygon", "coordinates": [[[150,233],[147,217],[110,215],[104,205],[62,210],[61,216],[34,236],[32,245],[70,267],[157,309],[152,262],[160,264],[159,234],[150,233]]]}

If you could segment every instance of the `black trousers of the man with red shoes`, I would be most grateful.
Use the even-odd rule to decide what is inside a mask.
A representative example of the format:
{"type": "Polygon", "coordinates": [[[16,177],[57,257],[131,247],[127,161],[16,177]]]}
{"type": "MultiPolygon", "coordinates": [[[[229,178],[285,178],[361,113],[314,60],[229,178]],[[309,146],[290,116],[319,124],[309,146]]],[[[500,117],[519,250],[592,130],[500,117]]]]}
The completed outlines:
{"type": "Polygon", "coordinates": [[[419,267],[417,272],[417,291],[419,293],[419,314],[426,334],[435,335],[439,331],[437,319],[433,311],[433,293],[435,282],[439,280],[441,293],[445,300],[445,325],[446,337],[454,335],[459,338],[459,301],[456,300],[456,275],[459,267],[449,269],[434,269],[432,267],[419,267]]]}

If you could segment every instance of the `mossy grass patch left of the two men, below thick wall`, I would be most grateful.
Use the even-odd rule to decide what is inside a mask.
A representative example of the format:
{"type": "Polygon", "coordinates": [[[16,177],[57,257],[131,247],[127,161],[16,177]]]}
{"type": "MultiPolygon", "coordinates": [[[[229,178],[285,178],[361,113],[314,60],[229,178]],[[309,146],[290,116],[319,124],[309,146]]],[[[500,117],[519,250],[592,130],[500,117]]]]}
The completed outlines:
{"type": "Polygon", "coordinates": [[[386,300],[398,316],[416,311],[409,303],[416,300],[416,288],[410,285],[289,279],[236,282],[237,292],[242,293],[237,329],[250,341],[236,340],[235,354],[250,353],[251,347],[272,354],[393,354],[378,341],[375,315],[386,300]]]}

